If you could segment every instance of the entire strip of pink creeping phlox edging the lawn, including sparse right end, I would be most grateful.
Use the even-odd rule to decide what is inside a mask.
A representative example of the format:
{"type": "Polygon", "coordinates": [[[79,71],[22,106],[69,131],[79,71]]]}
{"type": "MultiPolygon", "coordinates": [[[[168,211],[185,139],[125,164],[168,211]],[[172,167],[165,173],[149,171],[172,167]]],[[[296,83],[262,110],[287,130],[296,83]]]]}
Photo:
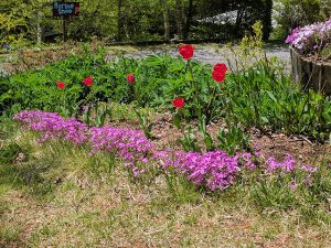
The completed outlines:
{"type": "MultiPolygon", "coordinates": [[[[139,130],[109,126],[88,128],[75,118],[65,119],[55,112],[25,110],[17,114],[13,119],[23,122],[23,128],[39,132],[40,142],[64,139],[75,145],[84,143],[89,145],[90,155],[96,152],[113,153],[125,161],[125,166],[131,170],[134,176],[147,172],[151,164],[159,163],[163,170],[174,169],[195,185],[210,191],[228,187],[244,171],[249,173],[249,171],[261,170],[263,174],[300,172],[305,175],[301,183],[306,185],[312,184],[313,174],[318,172],[312,165],[299,166],[290,154],[284,161],[277,161],[273,157],[266,158],[258,150],[234,157],[221,150],[205,153],[160,151],[139,130]]],[[[297,188],[297,186],[292,187],[292,184],[288,186],[297,188]]]]}

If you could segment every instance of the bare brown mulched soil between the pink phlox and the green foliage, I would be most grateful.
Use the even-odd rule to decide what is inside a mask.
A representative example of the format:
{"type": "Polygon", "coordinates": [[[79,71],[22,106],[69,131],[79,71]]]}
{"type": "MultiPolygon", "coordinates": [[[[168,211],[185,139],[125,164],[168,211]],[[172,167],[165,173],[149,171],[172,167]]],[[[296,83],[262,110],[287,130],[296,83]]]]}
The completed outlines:
{"type": "MultiPolygon", "coordinates": [[[[175,128],[172,122],[171,114],[157,114],[153,119],[153,142],[159,149],[174,149],[181,150],[179,139],[183,137],[183,132],[175,128]]],[[[140,129],[138,121],[109,122],[110,126],[128,129],[140,129]]],[[[201,137],[197,132],[196,123],[192,122],[194,127],[193,133],[197,140],[201,137]]],[[[214,122],[207,126],[207,131],[214,140],[216,140],[217,132],[221,127],[225,127],[223,121],[214,122]]],[[[293,155],[300,163],[318,163],[321,162],[327,154],[330,154],[331,147],[329,143],[317,143],[303,136],[286,136],[284,133],[261,133],[259,130],[252,129],[249,133],[249,144],[252,148],[258,148],[266,157],[275,157],[278,160],[284,159],[287,154],[293,155]]],[[[203,142],[201,141],[201,147],[203,142]]]]}

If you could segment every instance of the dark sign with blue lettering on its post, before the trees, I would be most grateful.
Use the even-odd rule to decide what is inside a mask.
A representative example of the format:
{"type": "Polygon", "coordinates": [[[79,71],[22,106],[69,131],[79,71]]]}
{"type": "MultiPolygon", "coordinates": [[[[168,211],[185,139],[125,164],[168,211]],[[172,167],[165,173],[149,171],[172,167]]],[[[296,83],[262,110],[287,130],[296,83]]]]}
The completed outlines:
{"type": "Polygon", "coordinates": [[[53,2],[53,18],[62,18],[63,41],[66,41],[67,21],[79,14],[79,2],[53,2]]]}

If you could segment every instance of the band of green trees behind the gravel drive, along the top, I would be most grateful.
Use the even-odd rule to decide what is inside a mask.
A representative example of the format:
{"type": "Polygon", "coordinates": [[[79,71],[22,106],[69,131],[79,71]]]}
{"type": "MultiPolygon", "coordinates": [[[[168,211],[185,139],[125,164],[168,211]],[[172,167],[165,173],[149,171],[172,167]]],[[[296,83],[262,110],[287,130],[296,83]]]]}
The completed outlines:
{"type": "MultiPolygon", "coordinates": [[[[292,28],[325,20],[331,0],[81,0],[81,14],[68,21],[68,39],[90,41],[239,39],[261,20],[264,39],[271,32],[271,12],[278,11],[274,37],[292,28]]],[[[0,43],[38,44],[45,30],[62,33],[53,20],[50,0],[0,1],[0,43]]]]}

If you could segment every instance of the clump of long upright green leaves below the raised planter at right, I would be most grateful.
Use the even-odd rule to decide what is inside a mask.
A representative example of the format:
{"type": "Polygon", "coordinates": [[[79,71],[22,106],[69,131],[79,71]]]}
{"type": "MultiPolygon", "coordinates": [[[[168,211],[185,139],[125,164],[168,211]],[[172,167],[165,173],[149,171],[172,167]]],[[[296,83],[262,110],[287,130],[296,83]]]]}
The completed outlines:
{"type": "Polygon", "coordinates": [[[233,118],[245,127],[305,133],[319,140],[330,133],[330,100],[312,90],[301,91],[267,64],[231,75],[227,86],[233,118]]]}

